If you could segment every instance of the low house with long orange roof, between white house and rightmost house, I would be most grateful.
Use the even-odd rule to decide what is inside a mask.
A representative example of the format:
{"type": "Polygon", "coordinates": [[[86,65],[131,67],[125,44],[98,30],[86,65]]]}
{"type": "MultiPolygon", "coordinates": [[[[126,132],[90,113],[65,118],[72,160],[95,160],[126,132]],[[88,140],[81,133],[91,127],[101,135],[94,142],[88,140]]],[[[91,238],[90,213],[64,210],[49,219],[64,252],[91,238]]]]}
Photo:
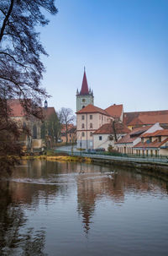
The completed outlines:
{"type": "Polygon", "coordinates": [[[115,143],[115,148],[120,153],[136,154],[137,151],[134,150],[134,146],[139,144],[141,141],[140,135],[145,133],[154,133],[155,131],[162,129],[163,128],[160,127],[160,123],[155,123],[152,126],[150,125],[134,128],[129,134],[125,135],[122,139],[119,139],[118,142],[115,143]]]}

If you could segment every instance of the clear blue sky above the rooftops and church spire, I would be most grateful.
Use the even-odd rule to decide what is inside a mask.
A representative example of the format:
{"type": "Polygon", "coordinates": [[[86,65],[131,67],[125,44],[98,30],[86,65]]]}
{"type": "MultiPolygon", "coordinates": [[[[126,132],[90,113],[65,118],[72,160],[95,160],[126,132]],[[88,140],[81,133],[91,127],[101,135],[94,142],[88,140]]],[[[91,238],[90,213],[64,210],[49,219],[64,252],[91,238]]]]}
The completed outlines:
{"type": "Polygon", "coordinates": [[[84,66],[94,104],[124,112],[168,109],[167,0],[57,0],[40,28],[49,106],[76,112],[84,66]]]}

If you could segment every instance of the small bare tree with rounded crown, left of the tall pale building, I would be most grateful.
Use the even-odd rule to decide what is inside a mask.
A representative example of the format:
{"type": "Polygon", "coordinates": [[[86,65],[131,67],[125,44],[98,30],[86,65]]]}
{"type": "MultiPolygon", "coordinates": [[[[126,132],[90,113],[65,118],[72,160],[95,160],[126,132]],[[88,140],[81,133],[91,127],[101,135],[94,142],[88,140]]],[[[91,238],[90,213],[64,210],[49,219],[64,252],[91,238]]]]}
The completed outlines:
{"type": "Polygon", "coordinates": [[[66,127],[66,144],[68,142],[68,129],[70,128],[70,124],[74,123],[75,116],[73,115],[73,112],[71,108],[62,107],[59,112],[59,119],[60,123],[62,125],[65,125],[66,127]]]}

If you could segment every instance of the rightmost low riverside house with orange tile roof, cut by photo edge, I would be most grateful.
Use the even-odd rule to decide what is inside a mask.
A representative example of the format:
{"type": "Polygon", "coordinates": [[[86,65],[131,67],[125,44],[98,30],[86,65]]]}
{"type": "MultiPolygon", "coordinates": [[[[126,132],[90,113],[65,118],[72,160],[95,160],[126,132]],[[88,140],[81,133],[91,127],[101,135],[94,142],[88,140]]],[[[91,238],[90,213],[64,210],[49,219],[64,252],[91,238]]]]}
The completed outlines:
{"type": "Polygon", "coordinates": [[[168,155],[168,129],[149,131],[140,136],[141,141],[134,145],[137,155],[168,155]]]}

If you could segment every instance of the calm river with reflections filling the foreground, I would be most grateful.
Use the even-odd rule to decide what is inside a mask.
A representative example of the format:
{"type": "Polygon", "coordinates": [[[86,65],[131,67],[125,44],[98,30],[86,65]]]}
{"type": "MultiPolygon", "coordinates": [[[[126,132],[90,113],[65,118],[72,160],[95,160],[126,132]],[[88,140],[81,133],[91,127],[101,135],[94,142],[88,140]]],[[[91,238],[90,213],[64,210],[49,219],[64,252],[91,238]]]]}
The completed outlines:
{"type": "Polygon", "coordinates": [[[168,186],[87,163],[23,161],[0,182],[0,255],[167,255],[168,186]]]}

